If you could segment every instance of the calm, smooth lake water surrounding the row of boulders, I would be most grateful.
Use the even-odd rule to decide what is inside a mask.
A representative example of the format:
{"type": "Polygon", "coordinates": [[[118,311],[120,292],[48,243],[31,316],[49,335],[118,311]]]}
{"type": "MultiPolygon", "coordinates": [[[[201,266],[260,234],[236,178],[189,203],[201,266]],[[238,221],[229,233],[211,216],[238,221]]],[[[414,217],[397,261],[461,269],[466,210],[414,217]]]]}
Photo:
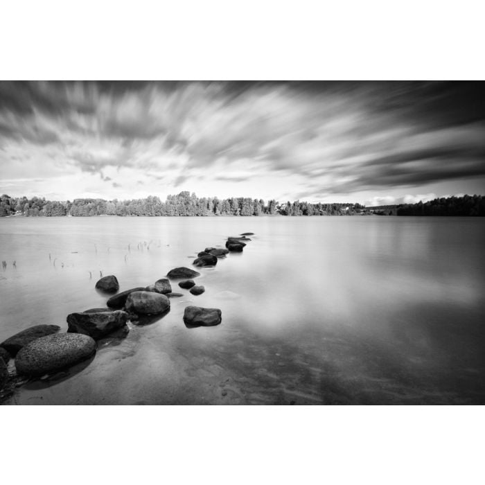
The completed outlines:
{"type": "Polygon", "coordinates": [[[10,403],[485,403],[484,219],[2,218],[0,341],[104,306],[100,271],[149,285],[245,231],[204,294],[173,283],[168,315],[10,403]],[[222,324],[186,328],[188,304],[222,324]]]}

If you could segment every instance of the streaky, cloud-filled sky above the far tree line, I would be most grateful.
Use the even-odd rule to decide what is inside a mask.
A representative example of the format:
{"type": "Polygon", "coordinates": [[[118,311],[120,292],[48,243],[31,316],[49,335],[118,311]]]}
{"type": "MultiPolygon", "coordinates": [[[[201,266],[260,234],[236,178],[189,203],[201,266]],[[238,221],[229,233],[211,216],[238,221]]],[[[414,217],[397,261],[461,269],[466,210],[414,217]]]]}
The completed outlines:
{"type": "Polygon", "coordinates": [[[0,193],[485,194],[484,82],[0,81],[0,193]]]}

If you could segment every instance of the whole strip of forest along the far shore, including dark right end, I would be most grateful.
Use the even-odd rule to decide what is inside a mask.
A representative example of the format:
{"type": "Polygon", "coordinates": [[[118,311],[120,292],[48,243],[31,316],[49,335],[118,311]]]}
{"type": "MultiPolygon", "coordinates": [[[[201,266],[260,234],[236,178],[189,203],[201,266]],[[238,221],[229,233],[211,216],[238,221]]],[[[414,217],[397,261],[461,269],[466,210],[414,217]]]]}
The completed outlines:
{"type": "Polygon", "coordinates": [[[485,215],[485,197],[464,195],[463,197],[441,197],[430,202],[385,206],[386,210],[366,209],[362,204],[311,204],[310,202],[276,202],[276,200],[252,199],[250,197],[197,197],[187,191],[168,195],[165,202],[150,195],[144,199],[104,200],[74,199],[60,202],[45,197],[0,197],[0,217],[6,216],[210,216],[210,215],[485,215]],[[391,210],[387,210],[391,209],[391,210]]]}

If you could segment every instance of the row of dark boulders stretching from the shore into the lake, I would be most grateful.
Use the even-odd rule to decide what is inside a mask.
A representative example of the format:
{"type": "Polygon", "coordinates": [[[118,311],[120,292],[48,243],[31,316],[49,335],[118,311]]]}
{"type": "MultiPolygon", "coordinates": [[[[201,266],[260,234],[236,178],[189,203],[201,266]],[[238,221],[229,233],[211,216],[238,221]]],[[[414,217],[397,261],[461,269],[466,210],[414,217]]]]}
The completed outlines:
{"type": "MultiPolygon", "coordinates": [[[[197,254],[193,265],[215,266],[218,258],[225,257],[229,252],[243,252],[245,241],[251,240],[247,236],[252,235],[243,233],[227,238],[226,249],[206,247],[197,254]]],[[[67,315],[67,333],[58,333],[58,325],[35,325],[1,342],[0,391],[9,380],[6,364],[10,358],[15,358],[17,376],[46,376],[93,357],[96,340],[107,336],[125,337],[129,332],[128,320],[135,324],[146,324],[163,317],[170,310],[170,298],[183,296],[172,291],[169,279],[182,279],[179,287],[189,290],[191,294],[198,295],[205,291],[204,286],[196,285],[193,281],[200,273],[188,267],[176,267],[167,276],[168,279],[159,279],[153,285],[114,294],[106,302],[108,308],[90,308],[67,315]]],[[[96,289],[107,293],[117,292],[119,283],[116,276],[104,276],[96,282],[96,289]]],[[[184,310],[184,324],[188,328],[215,326],[221,321],[218,308],[187,306],[184,310]]]]}

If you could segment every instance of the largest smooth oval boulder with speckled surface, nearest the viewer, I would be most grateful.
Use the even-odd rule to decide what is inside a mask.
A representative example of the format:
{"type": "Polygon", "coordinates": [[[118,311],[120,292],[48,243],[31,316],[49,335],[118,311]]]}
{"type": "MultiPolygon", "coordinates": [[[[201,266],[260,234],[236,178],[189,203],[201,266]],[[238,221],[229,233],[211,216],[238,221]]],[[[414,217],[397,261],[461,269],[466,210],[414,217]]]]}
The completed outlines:
{"type": "Polygon", "coordinates": [[[89,359],[94,353],[96,342],[89,335],[58,333],[24,346],[17,353],[15,368],[25,376],[42,376],[89,359]]]}

